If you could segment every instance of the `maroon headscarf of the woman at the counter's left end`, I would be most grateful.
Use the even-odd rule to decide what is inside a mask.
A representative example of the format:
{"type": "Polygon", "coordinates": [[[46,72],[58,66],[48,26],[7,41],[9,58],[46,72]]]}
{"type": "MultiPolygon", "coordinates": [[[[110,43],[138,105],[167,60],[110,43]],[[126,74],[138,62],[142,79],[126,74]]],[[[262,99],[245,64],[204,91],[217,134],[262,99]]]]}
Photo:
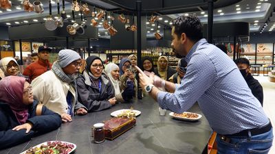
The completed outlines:
{"type": "Polygon", "coordinates": [[[28,119],[28,105],[23,103],[25,77],[8,76],[0,81],[0,100],[10,105],[15,117],[22,125],[28,119]]]}

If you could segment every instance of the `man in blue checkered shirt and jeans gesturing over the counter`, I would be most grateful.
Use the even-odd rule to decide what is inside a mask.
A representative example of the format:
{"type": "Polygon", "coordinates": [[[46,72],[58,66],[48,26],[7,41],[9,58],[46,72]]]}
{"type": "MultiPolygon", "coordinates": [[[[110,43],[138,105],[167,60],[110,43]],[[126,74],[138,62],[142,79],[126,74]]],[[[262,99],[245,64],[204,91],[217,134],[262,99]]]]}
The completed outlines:
{"type": "Polygon", "coordinates": [[[162,109],[186,112],[196,101],[218,133],[218,153],[268,153],[273,133],[263,107],[253,96],[236,64],[219,48],[202,38],[197,16],[173,21],[173,51],[188,62],[181,84],[173,84],[140,69],[140,86],[162,109]],[[162,92],[165,87],[174,93],[162,92]]]}

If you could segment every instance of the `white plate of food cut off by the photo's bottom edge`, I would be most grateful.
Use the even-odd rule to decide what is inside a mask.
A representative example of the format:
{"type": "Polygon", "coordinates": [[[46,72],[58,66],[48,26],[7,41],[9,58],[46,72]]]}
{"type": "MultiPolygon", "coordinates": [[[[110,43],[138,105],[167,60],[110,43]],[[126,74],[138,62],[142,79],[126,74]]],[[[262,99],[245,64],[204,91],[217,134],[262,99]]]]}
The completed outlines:
{"type": "Polygon", "coordinates": [[[52,153],[69,154],[76,150],[76,144],[64,141],[47,141],[38,144],[20,154],[52,153]]]}

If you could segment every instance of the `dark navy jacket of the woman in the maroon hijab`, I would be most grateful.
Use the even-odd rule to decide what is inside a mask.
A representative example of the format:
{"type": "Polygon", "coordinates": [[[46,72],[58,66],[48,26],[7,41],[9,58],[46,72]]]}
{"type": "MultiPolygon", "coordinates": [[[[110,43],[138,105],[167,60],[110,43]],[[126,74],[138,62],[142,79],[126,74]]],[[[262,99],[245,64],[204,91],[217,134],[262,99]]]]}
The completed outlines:
{"type": "Polygon", "coordinates": [[[6,149],[26,142],[41,133],[53,131],[61,126],[62,120],[59,114],[48,110],[43,106],[41,116],[36,116],[37,101],[34,101],[29,107],[29,116],[26,123],[32,123],[32,129],[29,133],[25,133],[26,129],[12,131],[12,129],[20,125],[10,106],[0,102],[0,149],[6,149]]]}

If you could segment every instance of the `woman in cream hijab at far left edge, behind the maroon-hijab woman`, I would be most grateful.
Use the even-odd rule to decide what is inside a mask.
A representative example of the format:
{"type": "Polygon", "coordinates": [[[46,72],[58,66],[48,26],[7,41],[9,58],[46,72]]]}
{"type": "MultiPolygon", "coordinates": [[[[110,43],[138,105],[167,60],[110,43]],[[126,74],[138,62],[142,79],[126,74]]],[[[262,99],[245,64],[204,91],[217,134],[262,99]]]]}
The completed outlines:
{"type": "Polygon", "coordinates": [[[19,73],[19,64],[13,57],[3,57],[0,60],[0,68],[3,71],[3,75],[1,75],[0,79],[10,75],[23,77],[23,75],[19,73]]]}

